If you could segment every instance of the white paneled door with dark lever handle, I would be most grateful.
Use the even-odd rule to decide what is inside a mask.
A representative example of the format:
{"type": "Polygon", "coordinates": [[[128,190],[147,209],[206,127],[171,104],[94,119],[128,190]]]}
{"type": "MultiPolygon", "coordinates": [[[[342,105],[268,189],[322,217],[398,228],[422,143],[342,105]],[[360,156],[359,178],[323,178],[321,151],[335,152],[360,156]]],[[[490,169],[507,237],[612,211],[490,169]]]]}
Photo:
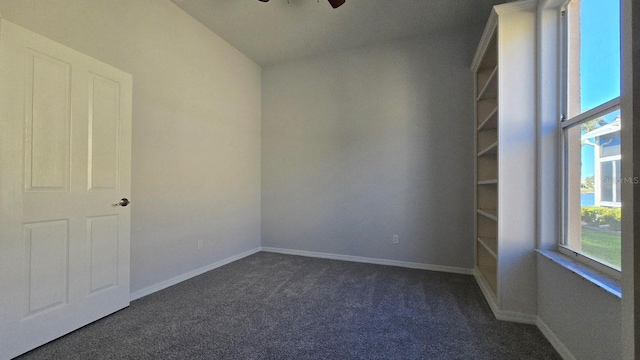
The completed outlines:
{"type": "Polygon", "coordinates": [[[0,21],[0,359],[129,305],[131,81],[0,21]]]}

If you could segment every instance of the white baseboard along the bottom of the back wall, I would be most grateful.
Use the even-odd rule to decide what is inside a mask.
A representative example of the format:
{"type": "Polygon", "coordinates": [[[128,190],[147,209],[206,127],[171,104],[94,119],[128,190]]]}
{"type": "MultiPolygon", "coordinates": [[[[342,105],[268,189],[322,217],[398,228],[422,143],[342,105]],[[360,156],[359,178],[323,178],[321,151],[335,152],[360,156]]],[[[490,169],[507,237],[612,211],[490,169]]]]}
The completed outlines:
{"type": "Polygon", "coordinates": [[[464,275],[473,274],[473,269],[465,269],[465,268],[459,268],[459,267],[453,267],[453,266],[421,264],[421,263],[412,263],[412,262],[405,262],[405,261],[386,260],[386,259],[368,258],[368,257],[351,256],[351,255],[339,255],[339,254],[322,253],[322,252],[315,252],[315,251],[291,250],[291,249],[282,249],[282,248],[273,248],[273,247],[262,247],[262,251],[278,253],[278,254],[286,254],[286,255],[314,257],[314,258],[321,258],[321,259],[342,260],[342,261],[359,262],[359,263],[366,263],[366,264],[398,266],[398,267],[404,267],[404,268],[410,268],[410,269],[440,271],[440,272],[447,272],[447,273],[454,273],[454,274],[464,274],[464,275]]]}

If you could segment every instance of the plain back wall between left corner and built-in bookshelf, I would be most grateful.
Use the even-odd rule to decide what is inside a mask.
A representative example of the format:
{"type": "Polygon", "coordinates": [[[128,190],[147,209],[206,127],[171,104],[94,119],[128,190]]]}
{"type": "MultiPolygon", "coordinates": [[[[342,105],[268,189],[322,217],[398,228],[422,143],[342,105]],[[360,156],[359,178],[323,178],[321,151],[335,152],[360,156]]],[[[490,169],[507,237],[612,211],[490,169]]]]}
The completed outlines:
{"type": "Polygon", "coordinates": [[[481,32],[265,67],[262,245],[473,268],[481,32]]]}

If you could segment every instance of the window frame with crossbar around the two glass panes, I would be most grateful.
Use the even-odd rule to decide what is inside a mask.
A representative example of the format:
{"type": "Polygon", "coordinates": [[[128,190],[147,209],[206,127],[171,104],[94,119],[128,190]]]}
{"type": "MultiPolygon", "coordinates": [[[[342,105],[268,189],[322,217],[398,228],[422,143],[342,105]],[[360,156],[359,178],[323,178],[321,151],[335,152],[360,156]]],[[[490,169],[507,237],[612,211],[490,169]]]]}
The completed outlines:
{"type": "MultiPolygon", "coordinates": [[[[569,151],[568,151],[568,129],[572,128],[574,126],[580,126],[581,124],[596,119],[600,116],[603,115],[607,115],[609,113],[612,113],[614,111],[618,111],[621,108],[621,104],[620,104],[620,98],[621,96],[618,96],[614,99],[611,99],[605,103],[600,104],[599,106],[596,106],[593,109],[590,109],[588,111],[582,112],[581,114],[578,114],[572,118],[568,118],[567,114],[568,112],[568,108],[569,108],[569,104],[568,104],[568,99],[569,99],[569,68],[568,68],[568,63],[569,63],[569,24],[568,24],[568,16],[567,16],[567,8],[569,6],[569,3],[571,1],[567,1],[566,4],[562,7],[559,8],[561,14],[560,14],[560,19],[561,19],[561,24],[560,24],[560,31],[559,31],[559,45],[560,45],[560,49],[559,49],[559,63],[560,63],[560,69],[559,69],[559,87],[560,87],[560,106],[561,106],[561,116],[560,116],[560,126],[559,126],[559,131],[560,131],[560,164],[561,164],[561,172],[560,172],[560,192],[561,192],[561,196],[560,196],[560,201],[561,201],[561,206],[560,206],[560,213],[561,213],[561,219],[560,219],[560,230],[561,230],[561,236],[560,236],[560,240],[558,242],[558,251],[565,255],[568,256],[572,259],[574,259],[575,261],[582,263],[584,265],[587,265],[591,268],[593,268],[596,271],[599,271],[601,273],[604,273],[610,277],[613,277],[617,280],[621,279],[621,269],[617,269],[613,266],[610,266],[609,264],[606,264],[594,257],[589,256],[588,254],[585,253],[581,253],[578,252],[577,250],[574,250],[572,248],[570,248],[567,244],[569,243],[569,182],[568,182],[568,172],[569,172],[569,160],[568,160],[568,156],[569,156],[569,151]]],[[[622,36],[622,34],[620,34],[622,36]]],[[[622,61],[622,59],[621,59],[622,61]]],[[[622,66],[622,64],[621,64],[622,66]]],[[[620,160],[620,165],[622,166],[622,156],[621,155],[617,155],[615,156],[620,160]]],[[[597,164],[597,166],[601,166],[600,162],[597,164]]],[[[621,199],[620,199],[621,200],[621,199]]],[[[621,202],[621,201],[620,201],[621,202]]],[[[614,203],[612,203],[613,205],[614,203]]],[[[618,205],[616,205],[616,207],[620,207],[620,203],[618,203],[618,205]]],[[[621,254],[622,256],[622,254],[621,254]]]]}

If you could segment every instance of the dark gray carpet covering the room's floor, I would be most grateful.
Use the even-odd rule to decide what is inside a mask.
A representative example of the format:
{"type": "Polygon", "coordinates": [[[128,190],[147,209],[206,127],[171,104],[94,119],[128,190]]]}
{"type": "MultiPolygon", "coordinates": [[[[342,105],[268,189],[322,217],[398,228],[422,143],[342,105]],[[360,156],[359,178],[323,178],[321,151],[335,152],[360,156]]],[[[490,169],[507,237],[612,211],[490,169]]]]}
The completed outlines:
{"type": "Polygon", "coordinates": [[[560,359],[472,276],[258,253],[20,359],[560,359]]]}

